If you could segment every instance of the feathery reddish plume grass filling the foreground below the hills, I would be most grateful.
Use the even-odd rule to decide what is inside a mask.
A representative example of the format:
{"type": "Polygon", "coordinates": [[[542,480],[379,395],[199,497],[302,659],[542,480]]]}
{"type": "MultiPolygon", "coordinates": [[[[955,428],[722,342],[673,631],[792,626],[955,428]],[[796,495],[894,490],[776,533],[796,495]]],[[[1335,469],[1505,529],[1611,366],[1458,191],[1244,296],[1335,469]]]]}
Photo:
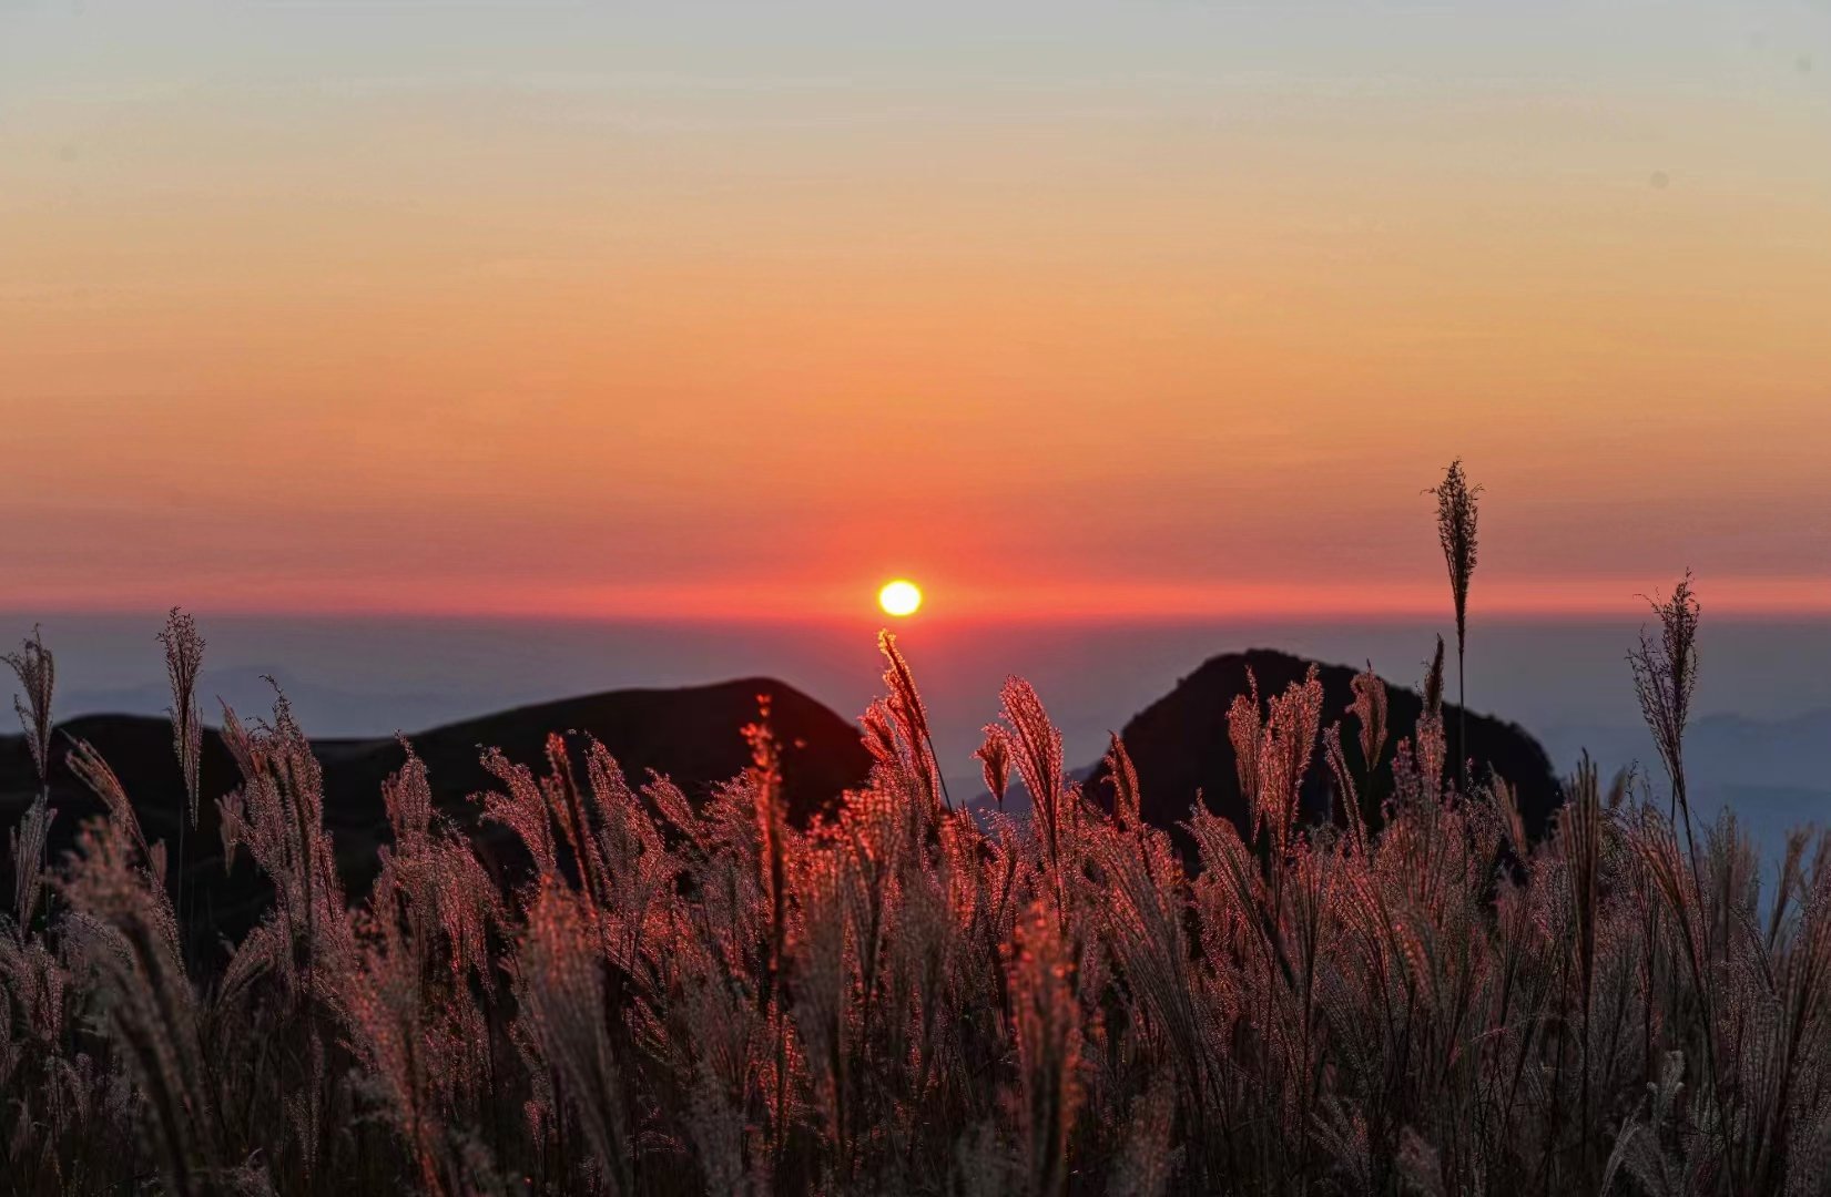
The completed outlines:
{"type": "MultiPolygon", "coordinates": [[[[1445,492],[1461,617],[1472,492],[1445,492]]],[[[870,782],[831,816],[789,818],[767,703],[705,802],[591,741],[485,752],[513,853],[403,745],[363,893],[284,699],[223,712],[222,851],[271,900],[214,957],[174,866],[200,849],[148,842],[53,736],[31,641],[40,776],[68,758],[95,800],[11,835],[0,1190],[1826,1192],[1831,847],[1796,836],[1763,893],[1736,825],[1694,824],[1688,584],[1657,613],[1631,675],[1661,796],[1584,761],[1544,835],[1452,760],[1441,644],[1412,736],[1371,672],[1346,708],[1315,675],[1234,697],[1245,809],[1197,802],[1186,853],[1119,738],[1067,780],[1016,679],[980,756],[1031,813],[952,809],[890,637],[870,782]],[[53,818],[84,822],[48,860],[53,818]]],[[[189,829],[201,641],[179,615],[165,641],[189,829]]]]}

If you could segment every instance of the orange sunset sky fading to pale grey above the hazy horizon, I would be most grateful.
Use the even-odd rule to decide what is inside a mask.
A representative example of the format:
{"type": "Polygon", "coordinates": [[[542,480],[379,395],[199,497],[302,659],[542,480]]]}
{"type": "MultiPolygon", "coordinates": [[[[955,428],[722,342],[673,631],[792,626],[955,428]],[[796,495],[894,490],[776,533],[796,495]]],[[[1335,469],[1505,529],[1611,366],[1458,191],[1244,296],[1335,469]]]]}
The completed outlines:
{"type": "Polygon", "coordinates": [[[0,608],[1831,611],[1831,4],[0,0],[0,608]],[[659,9],[661,5],[654,5],[659,9]]]}

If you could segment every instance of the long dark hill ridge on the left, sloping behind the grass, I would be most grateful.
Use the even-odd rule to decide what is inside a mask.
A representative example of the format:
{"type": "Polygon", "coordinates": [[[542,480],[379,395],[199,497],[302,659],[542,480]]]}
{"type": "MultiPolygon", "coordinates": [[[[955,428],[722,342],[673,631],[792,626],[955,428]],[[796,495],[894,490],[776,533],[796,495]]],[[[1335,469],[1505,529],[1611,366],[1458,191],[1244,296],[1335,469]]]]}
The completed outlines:
{"type": "MultiPolygon", "coordinates": [[[[520,706],[417,732],[408,741],[427,763],[438,807],[476,831],[478,809],[469,796],[500,789],[480,763],[483,749],[498,747],[538,776],[546,771],[549,732],[569,734],[573,741],[590,734],[610,749],[634,785],[646,782],[652,769],[670,776],[690,798],[703,800],[712,785],[749,765],[749,745],[740,730],[756,721],[756,699],[765,694],[771,697],[769,721],[782,743],[789,814],[806,822],[813,813],[829,809],[848,787],[862,785],[870,758],[853,723],[767,677],[677,690],[613,690],[520,706]]],[[[59,814],[51,857],[70,847],[82,820],[101,813],[101,803],[64,763],[71,738],[95,745],[114,767],[146,838],[165,840],[176,868],[183,782],[172,754],[170,725],[146,716],[82,716],[59,725],[51,771],[51,805],[59,814]]],[[[366,886],[377,868],[375,847],[386,842],[381,783],[401,767],[405,752],[392,738],[315,739],[311,747],[324,769],[324,822],[344,879],[352,886],[366,886]]],[[[245,858],[229,875],[222,866],[214,800],[240,785],[242,778],[214,730],[203,734],[201,780],[200,825],[185,831],[187,875],[198,888],[198,910],[209,915],[207,922],[223,933],[240,932],[245,911],[265,890],[245,858]]],[[[35,793],[37,772],[24,738],[0,736],[0,825],[15,825],[35,793]]],[[[500,829],[483,829],[480,838],[491,849],[500,847],[505,836],[500,829]]],[[[0,853],[0,893],[11,895],[9,853],[0,853]]]]}

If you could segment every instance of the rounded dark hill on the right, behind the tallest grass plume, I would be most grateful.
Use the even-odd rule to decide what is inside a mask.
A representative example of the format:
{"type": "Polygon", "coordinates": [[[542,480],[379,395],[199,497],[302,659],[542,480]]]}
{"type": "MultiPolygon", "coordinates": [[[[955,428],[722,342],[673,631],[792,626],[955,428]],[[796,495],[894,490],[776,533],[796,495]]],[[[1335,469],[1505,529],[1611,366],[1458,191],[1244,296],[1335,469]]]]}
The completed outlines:
{"type": "MultiPolygon", "coordinates": [[[[1157,827],[1172,829],[1183,851],[1190,851],[1192,842],[1177,824],[1188,818],[1197,791],[1207,800],[1208,809],[1232,818],[1241,833],[1251,825],[1245,798],[1240,794],[1240,776],[1234,769],[1234,747],[1227,738],[1227,708],[1234,696],[1247,694],[1251,688],[1247,670],[1258,677],[1260,697],[1271,697],[1282,694],[1291,683],[1302,683],[1309,664],[1309,661],[1291,653],[1267,648],[1212,657],[1181,679],[1170,694],[1126,723],[1121,736],[1139,772],[1143,814],[1157,827]]],[[[1322,727],[1327,728],[1329,723],[1342,721],[1342,750],[1359,783],[1366,772],[1366,761],[1360,756],[1359,723],[1346,714],[1353,701],[1355,674],[1357,670],[1346,666],[1320,664],[1316,677],[1324,694],[1322,727]]],[[[1381,767],[1379,793],[1371,803],[1362,794],[1368,825],[1379,824],[1379,800],[1392,794],[1392,752],[1401,738],[1415,739],[1417,719],[1425,708],[1423,696],[1392,681],[1386,683],[1386,760],[1381,767]]],[[[1456,706],[1445,705],[1445,723],[1450,745],[1448,769],[1454,769],[1461,756],[1456,706]]],[[[1558,805],[1558,780],[1538,741],[1516,723],[1470,714],[1468,743],[1478,767],[1476,776],[1485,776],[1485,771],[1492,769],[1518,787],[1527,835],[1534,838],[1544,835],[1551,813],[1558,805]]],[[[1331,785],[1318,745],[1318,756],[1304,780],[1306,816],[1320,818],[1327,811],[1331,785]]],[[[1104,765],[1093,771],[1086,793],[1100,805],[1111,805],[1111,787],[1106,783],[1104,765]]]]}

